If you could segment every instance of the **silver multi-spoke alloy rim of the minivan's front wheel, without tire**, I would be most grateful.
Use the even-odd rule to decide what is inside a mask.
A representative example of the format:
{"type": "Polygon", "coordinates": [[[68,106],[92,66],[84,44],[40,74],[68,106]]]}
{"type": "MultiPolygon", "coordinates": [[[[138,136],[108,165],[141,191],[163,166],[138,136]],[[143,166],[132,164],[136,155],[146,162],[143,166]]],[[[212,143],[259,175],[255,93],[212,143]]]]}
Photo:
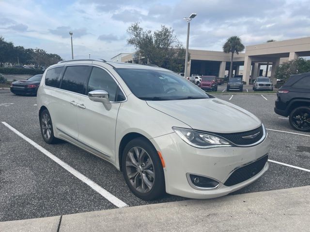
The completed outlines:
{"type": "Polygon", "coordinates": [[[130,184],[140,193],[149,192],[154,185],[154,165],[141,147],[132,147],[126,154],[126,174],[130,184]]]}

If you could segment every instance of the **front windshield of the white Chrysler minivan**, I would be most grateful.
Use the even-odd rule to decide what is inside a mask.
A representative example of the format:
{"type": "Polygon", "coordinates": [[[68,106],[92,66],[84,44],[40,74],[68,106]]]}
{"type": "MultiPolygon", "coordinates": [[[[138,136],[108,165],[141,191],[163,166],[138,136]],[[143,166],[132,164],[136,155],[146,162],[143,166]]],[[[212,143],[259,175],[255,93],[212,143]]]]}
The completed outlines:
{"type": "Polygon", "coordinates": [[[141,100],[165,101],[209,98],[201,88],[178,74],[149,69],[115,69],[141,100]]]}

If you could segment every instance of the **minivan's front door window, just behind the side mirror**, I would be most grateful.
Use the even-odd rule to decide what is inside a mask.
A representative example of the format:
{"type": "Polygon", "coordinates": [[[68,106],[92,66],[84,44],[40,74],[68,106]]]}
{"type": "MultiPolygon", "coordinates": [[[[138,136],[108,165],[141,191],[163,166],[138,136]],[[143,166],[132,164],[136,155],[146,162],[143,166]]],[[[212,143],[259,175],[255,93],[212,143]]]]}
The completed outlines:
{"type": "Polygon", "coordinates": [[[116,82],[109,75],[109,73],[103,69],[93,67],[93,71],[88,82],[87,94],[93,90],[106,90],[109,93],[109,100],[111,102],[115,102],[117,87],[116,82]]]}

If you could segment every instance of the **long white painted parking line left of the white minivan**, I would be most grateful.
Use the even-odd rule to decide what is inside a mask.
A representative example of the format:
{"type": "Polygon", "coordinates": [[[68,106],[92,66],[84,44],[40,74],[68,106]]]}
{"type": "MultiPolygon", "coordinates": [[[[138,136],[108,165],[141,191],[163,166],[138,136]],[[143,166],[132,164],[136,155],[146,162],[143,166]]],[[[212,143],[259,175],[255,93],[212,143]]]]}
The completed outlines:
{"type": "Polygon", "coordinates": [[[127,207],[128,205],[124,202],[122,202],[120,199],[118,199],[117,197],[115,197],[114,195],[112,195],[111,193],[109,193],[106,189],[100,187],[99,185],[97,185],[95,182],[93,182],[91,179],[87,178],[85,175],[79,173],[77,170],[75,170],[74,168],[72,168],[70,165],[68,165],[67,163],[63,162],[62,160],[60,160],[59,158],[57,158],[56,156],[54,156],[52,153],[50,153],[49,151],[47,151],[46,149],[44,149],[42,146],[38,145],[37,143],[35,143],[34,141],[32,141],[30,138],[26,137],[25,135],[23,135],[21,132],[17,131],[15,128],[13,128],[12,126],[10,126],[9,124],[7,124],[6,122],[2,122],[4,126],[6,126],[7,128],[9,128],[11,131],[13,131],[14,133],[16,133],[19,137],[21,137],[22,139],[26,140],[28,143],[30,143],[32,146],[34,146],[35,148],[37,148],[39,151],[41,151],[43,154],[45,154],[47,157],[49,157],[50,159],[54,160],[56,163],[58,163],[60,166],[62,166],[65,170],[67,170],[69,173],[73,174],[74,176],[76,176],[78,179],[80,179],[81,181],[83,181],[85,184],[87,184],[88,186],[90,186],[91,188],[93,188],[93,190],[95,190],[96,192],[98,192],[101,196],[103,196],[104,198],[106,198],[110,203],[113,203],[114,205],[116,205],[119,208],[123,208],[123,207],[127,207]]]}

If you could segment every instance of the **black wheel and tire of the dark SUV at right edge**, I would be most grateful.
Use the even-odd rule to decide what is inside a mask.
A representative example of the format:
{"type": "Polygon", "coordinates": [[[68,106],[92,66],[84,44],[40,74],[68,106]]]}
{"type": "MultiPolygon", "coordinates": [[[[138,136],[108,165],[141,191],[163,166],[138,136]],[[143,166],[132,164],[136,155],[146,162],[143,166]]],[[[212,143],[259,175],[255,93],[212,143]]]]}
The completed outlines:
{"type": "Polygon", "coordinates": [[[292,110],[289,121],[296,131],[310,131],[310,107],[300,106],[292,110]]]}

